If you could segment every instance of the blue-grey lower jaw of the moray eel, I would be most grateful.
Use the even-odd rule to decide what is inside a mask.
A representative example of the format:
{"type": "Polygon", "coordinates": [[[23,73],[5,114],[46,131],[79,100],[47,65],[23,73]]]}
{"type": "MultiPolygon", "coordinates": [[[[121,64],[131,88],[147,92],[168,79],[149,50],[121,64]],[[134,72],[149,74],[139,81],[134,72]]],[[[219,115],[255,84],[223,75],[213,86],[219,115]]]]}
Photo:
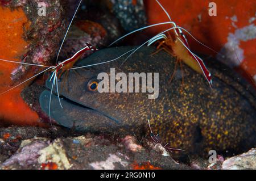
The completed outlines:
{"type": "Polygon", "coordinates": [[[107,131],[106,128],[116,129],[122,125],[121,121],[114,119],[106,113],[77,103],[63,95],[60,95],[62,107],[60,106],[58,96],[53,92],[50,103],[50,95],[51,90],[48,89],[40,94],[40,106],[51,119],[64,127],[76,127],[79,131],[107,131]]]}

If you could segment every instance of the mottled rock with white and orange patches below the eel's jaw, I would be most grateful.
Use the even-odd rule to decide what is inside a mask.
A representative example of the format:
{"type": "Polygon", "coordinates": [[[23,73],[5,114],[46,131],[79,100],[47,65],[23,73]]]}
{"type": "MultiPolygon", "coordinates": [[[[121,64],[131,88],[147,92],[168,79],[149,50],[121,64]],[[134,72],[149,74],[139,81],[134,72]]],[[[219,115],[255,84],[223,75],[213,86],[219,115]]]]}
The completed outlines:
{"type": "MultiPolygon", "coordinates": [[[[13,146],[10,154],[7,154],[8,149],[1,149],[0,169],[190,169],[182,163],[177,165],[171,157],[164,157],[147,145],[135,143],[131,136],[124,139],[104,134],[75,135],[72,132],[68,136],[56,128],[56,132],[68,137],[52,137],[51,129],[34,129],[0,129],[0,135],[3,132],[14,135],[15,130],[27,132],[27,139],[20,136],[18,145],[13,146]],[[47,132],[49,136],[45,134],[47,132]],[[139,149],[129,149],[134,144],[139,149]]],[[[11,144],[11,137],[9,140],[1,138],[1,145],[11,144]]]]}

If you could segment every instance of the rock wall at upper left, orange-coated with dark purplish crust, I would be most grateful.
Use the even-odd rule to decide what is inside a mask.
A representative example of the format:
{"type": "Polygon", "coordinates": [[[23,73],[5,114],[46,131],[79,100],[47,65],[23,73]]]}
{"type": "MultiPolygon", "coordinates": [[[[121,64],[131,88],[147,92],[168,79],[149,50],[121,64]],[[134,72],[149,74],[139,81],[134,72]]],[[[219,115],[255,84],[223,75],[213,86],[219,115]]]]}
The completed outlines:
{"type": "MultiPolygon", "coordinates": [[[[65,33],[65,1],[67,0],[24,0],[1,3],[0,58],[28,64],[50,65],[65,33]],[[46,6],[45,16],[39,15],[39,3],[46,6]]],[[[39,71],[42,71],[42,68],[38,66],[1,61],[0,92],[9,90],[39,71]]],[[[0,96],[0,116],[5,117],[3,121],[6,123],[42,125],[39,123],[38,115],[20,96],[20,92],[30,81],[0,96]]]]}

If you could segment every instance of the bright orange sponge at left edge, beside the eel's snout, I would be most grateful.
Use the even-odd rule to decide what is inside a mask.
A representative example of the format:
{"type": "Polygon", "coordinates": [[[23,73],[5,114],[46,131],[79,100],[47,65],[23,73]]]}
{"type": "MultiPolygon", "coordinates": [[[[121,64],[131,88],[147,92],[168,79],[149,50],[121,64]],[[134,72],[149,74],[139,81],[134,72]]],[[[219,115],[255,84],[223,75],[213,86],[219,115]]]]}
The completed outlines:
{"type": "MultiPolygon", "coordinates": [[[[0,17],[0,58],[20,61],[29,44],[23,39],[23,31],[30,22],[21,8],[10,10],[9,7],[0,7],[0,17]]],[[[10,75],[17,67],[18,64],[0,62],[0,94],[14,85],[10,75]]],[[[20,96],[23,88],[24,85],[0,95],[0,121],[16,125],[38,125],[37,113],[20,96]]]]}

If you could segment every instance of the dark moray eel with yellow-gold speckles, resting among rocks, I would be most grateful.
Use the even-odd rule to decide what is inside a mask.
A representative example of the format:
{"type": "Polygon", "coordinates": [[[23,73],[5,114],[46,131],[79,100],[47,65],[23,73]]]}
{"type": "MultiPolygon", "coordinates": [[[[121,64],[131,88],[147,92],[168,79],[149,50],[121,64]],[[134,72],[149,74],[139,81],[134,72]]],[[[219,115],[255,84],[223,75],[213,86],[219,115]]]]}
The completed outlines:
{"type": "MultiPolygon", "coordinates": [[[[132,48],[99,50],[76,66],[112,60],[132,48]]],[[[69,70],[67,78],[61,77],[59,82],[63,108],[56,93],[52,95],[52,119],[79,131],[128,131],[149,135],[148,119],[152,131],[159,134],[163,144],[169,142],[172,148],[189,153],[208,154],[212,149],[217,153],[237,153],[255,146],[255,91],[240,75],[220,62],[205,60],[213,75],[213,89],[201,74],[186,65],[170,82],[175,58],[163,51],[152,55],[154,52],[154,48],[144,47],[124,64],[125,57],[122,57],[108,64],[69,70]],[[90,90],[88,84],[96,81],[99,73],[110,74],[110,68],[126,75],[159,73],[158,98],[148,99],[148,92],[100,93],[90,90]]],[[[40,105],[48,113],[51,83],[47,81],[46,86],[48,89],[40,95],[40,105]]]]}

